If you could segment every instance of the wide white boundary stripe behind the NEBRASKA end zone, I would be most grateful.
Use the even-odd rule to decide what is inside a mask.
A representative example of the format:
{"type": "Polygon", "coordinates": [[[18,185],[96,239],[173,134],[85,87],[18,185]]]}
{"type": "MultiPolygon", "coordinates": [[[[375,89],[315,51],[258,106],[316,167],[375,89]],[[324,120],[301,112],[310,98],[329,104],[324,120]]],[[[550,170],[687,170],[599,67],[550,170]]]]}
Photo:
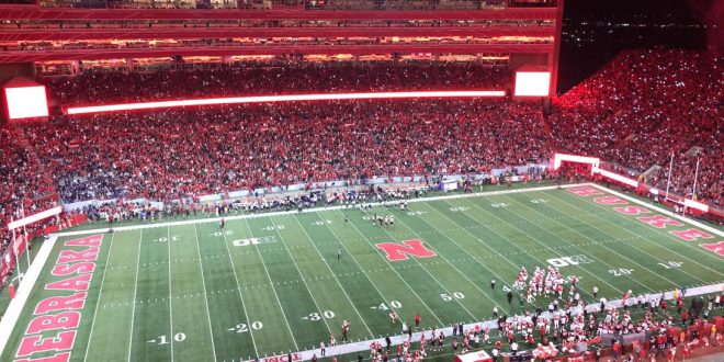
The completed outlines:
{"type": "Polygon", "coordinates": [[[41,271],[43,270],[45,262],[50,256],[50,251],[53,250],[57,239],[57,236],[50,236],[43,242],[41,250],[37,252],[37,254],[35,254],[33,263],[27,269],[25,278],[20,283],[15,297],[10,301],[10,305],[3,314],[2,320],[0,320],[0,354],[2,354],[5,350],[10,335],[15,329],[18,319],[20,319],[20,314],[23,312],[25,303],[27,303],[27,298],[31,295],[31,291],[35,286],[35,282],[41,275],[41,271]]]}

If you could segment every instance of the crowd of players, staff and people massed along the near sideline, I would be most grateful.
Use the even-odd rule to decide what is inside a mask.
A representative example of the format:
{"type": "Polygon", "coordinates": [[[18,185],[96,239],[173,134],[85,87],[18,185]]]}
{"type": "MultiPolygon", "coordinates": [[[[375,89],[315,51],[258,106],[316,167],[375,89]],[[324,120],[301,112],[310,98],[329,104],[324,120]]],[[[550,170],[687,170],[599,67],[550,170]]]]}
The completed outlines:
{"type": "MultiPolygon", "coordinates": [[[[623,361],[631,362],[674,361],[677,354],[682,354],[686,360],[695,348],[722,346],[724,336],[717,325],[711,323],[713,315],[724,307],[722,292],[688,301],[686,289],[675,290],[669,299],[665,294],[642,294],[638,297],[627,297],[626,294],[622,301],[623,309],[620,309],[618,303],[606,298],[587,304],[578,296],[580,290],[575,282],[570,291],[568,297],[539,295],[552,301],[547,312],[540,307],[523,310],[522,295],[521,312],[517,315],[500,315],[496,306],[491,315],[494,321],[497,319],[495,333],[490,324],[453,324],[452,333],[434,328],[425,330],[419,327],[419,315],[407,325],[393,310],[389,314],[392,324],[401,324],[401,343],[393,348],[389,336],[373,341],[370,358],[381,362],[415,362],[449,353],[452,348],[454,354],[485,349],[490,351],[493,361],[504,360],[504,354],[511,361],[599,361],[602,357],[614,361],[623,358],[623,361]],[[414,331],[418,332],[415,337],[414,331]]],[[[508,299],[511,298],[509,292],[508,299]]],[[[329,344],[320,343],[320,355],[326,355],[326,346],[335,344],[331,335],[329,344]]],[[[313,361],[316,360],[315,354],[313,361]]],[[[358,360],[363,360],[362,353],[358,360]]]]}

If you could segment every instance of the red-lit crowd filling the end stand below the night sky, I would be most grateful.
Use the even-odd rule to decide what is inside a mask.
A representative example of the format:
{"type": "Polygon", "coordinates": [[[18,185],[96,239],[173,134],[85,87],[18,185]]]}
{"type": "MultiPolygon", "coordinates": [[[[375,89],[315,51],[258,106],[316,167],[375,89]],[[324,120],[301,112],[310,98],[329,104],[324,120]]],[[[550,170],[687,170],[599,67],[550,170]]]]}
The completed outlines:
{"type": "Polygon", "coordinates": [[[644,172],[665,190],[691,196],[697,158],[699,200],[724,202],[724,58],[701,52],[621,53],[554,104],[548,122],[562,150],[601,157],[644,172]],[[699,147],[700,149],[692,149],[699,147]]]}

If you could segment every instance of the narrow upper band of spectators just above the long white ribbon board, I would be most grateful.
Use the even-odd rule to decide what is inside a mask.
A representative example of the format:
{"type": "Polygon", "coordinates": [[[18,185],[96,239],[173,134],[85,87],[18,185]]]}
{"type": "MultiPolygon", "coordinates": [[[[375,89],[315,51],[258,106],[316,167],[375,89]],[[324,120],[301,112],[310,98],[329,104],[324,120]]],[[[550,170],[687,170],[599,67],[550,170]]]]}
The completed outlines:
{"type": "Polygon", "coordinates": [[[91,71],[46,79],[50,98],[64,105],[145,102],[188,98],[308,92],[504,89],[504,67],[468,64],[298,64],[200,71],[91,71]]]}

